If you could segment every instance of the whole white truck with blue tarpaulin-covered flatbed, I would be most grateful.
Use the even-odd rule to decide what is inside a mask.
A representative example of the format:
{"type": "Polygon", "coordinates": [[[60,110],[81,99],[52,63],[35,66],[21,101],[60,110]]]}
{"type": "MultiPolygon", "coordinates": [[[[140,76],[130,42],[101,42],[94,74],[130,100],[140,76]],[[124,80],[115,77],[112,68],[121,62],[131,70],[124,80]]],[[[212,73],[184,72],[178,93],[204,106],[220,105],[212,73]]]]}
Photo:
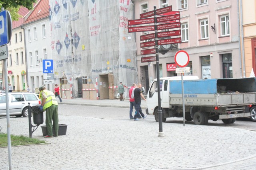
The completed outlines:
{"type": "MultiPolygon", "coordinates": [[[[184,76],[186,121],[207,125],[209,119],[234,123],[237,117],[256,121],[256,78],[202,79],[184,76]]],[[[160,78],[162,121],[168,117],[183,117],[182,82],[180,77],[160,78]]],[[[147,94],[146,113],[158,121],[157,80],[147,94]]]]}

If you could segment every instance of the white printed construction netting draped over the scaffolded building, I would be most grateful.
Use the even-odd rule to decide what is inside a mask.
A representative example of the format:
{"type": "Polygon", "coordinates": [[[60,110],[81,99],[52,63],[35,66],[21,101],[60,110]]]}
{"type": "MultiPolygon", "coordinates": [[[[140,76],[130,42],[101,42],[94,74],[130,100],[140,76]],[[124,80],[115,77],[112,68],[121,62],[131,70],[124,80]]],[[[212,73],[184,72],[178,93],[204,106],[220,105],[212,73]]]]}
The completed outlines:
{"type": "MultiPolygon", "coordinates": [[[[113,74],[115,86],[119,82],[126,86],[138,82],[134,33],[128,33],[128,20],[134,18],[134,4],[130,0],[50,0],[49,3],[57,81],[65,77],[72,84],[80,77],[113,74]]],[[[72,97],[78,97],[78,86],[73,84],[73,88],[72,97]]]]}

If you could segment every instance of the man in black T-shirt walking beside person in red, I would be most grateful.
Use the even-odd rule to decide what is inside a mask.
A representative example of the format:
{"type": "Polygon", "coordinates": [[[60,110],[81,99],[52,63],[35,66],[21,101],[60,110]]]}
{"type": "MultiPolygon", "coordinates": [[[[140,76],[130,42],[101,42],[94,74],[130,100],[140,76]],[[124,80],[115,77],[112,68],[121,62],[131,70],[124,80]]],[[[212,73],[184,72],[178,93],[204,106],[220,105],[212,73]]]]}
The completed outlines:
{"type": "MultiPolygon", "coordinates": [[[[146,99],[144,98],[142,91],[141,91],[141,84],[139,83],[138,88],[134,89],[135,110],[137,113],[140,113],[141,98],[146,101],[146,99]]],[[[139,120],[136,116],[137,115],[136,112],[134,115],[134,120],[139,120]]],[[[143,113],[140,113],[140,115],[143,117],[143,119],[145,119],[147,117],[147,115],[144,115],[143,113]]]]}

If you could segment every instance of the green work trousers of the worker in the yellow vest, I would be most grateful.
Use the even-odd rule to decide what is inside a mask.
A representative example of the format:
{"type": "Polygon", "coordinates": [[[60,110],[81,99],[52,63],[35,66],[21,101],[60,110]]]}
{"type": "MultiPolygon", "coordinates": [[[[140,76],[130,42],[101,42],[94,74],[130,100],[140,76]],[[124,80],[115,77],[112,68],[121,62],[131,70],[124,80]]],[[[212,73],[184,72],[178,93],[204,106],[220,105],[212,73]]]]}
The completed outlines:
{"type": "Polygon", "coordinates": [[[55,131],[55,136],[58,136],[59,131],[59,117],[58,117],[58,105],[53,104],[52,106],[46,109],[46,119],[45,124],[47,128],[47,135],[52,135],[52,127],[55,131]],[[53,121],[53,123],[52,123],[53,121]]]}

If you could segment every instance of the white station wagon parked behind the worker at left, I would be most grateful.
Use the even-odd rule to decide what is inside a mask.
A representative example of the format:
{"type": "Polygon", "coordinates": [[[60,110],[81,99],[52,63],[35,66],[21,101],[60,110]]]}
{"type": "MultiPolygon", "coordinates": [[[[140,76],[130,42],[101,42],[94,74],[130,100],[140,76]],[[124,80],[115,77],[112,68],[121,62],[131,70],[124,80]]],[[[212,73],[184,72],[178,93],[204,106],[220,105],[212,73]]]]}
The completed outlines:
{"type": "MultiPolygon", "coordinates": [[[[28,103],[30,107],[41,104],[35,93],[30,92],[9,92],[9,113],[10,116],[28,117],[28,103]]],[[[6,116],[6,94],[0,94],[0,116],[6,116]]]]}

